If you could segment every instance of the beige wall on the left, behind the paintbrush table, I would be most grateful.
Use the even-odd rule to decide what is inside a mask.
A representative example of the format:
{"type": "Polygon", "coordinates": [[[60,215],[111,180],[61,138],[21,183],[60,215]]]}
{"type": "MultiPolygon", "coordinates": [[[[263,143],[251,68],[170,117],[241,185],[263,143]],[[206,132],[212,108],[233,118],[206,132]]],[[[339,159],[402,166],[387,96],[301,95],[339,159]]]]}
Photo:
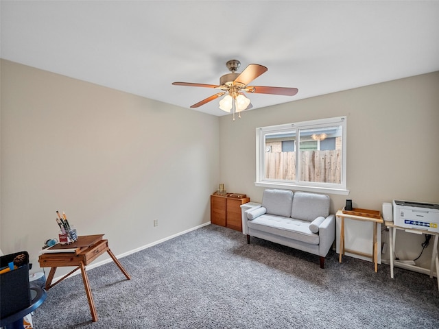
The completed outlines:
{"type": "Polygon", "coordinates": [[[1,60],[1,250],[38,269],[56,210],[116,255],[208,223],[218,145],[217,117],[1,60]]]}

